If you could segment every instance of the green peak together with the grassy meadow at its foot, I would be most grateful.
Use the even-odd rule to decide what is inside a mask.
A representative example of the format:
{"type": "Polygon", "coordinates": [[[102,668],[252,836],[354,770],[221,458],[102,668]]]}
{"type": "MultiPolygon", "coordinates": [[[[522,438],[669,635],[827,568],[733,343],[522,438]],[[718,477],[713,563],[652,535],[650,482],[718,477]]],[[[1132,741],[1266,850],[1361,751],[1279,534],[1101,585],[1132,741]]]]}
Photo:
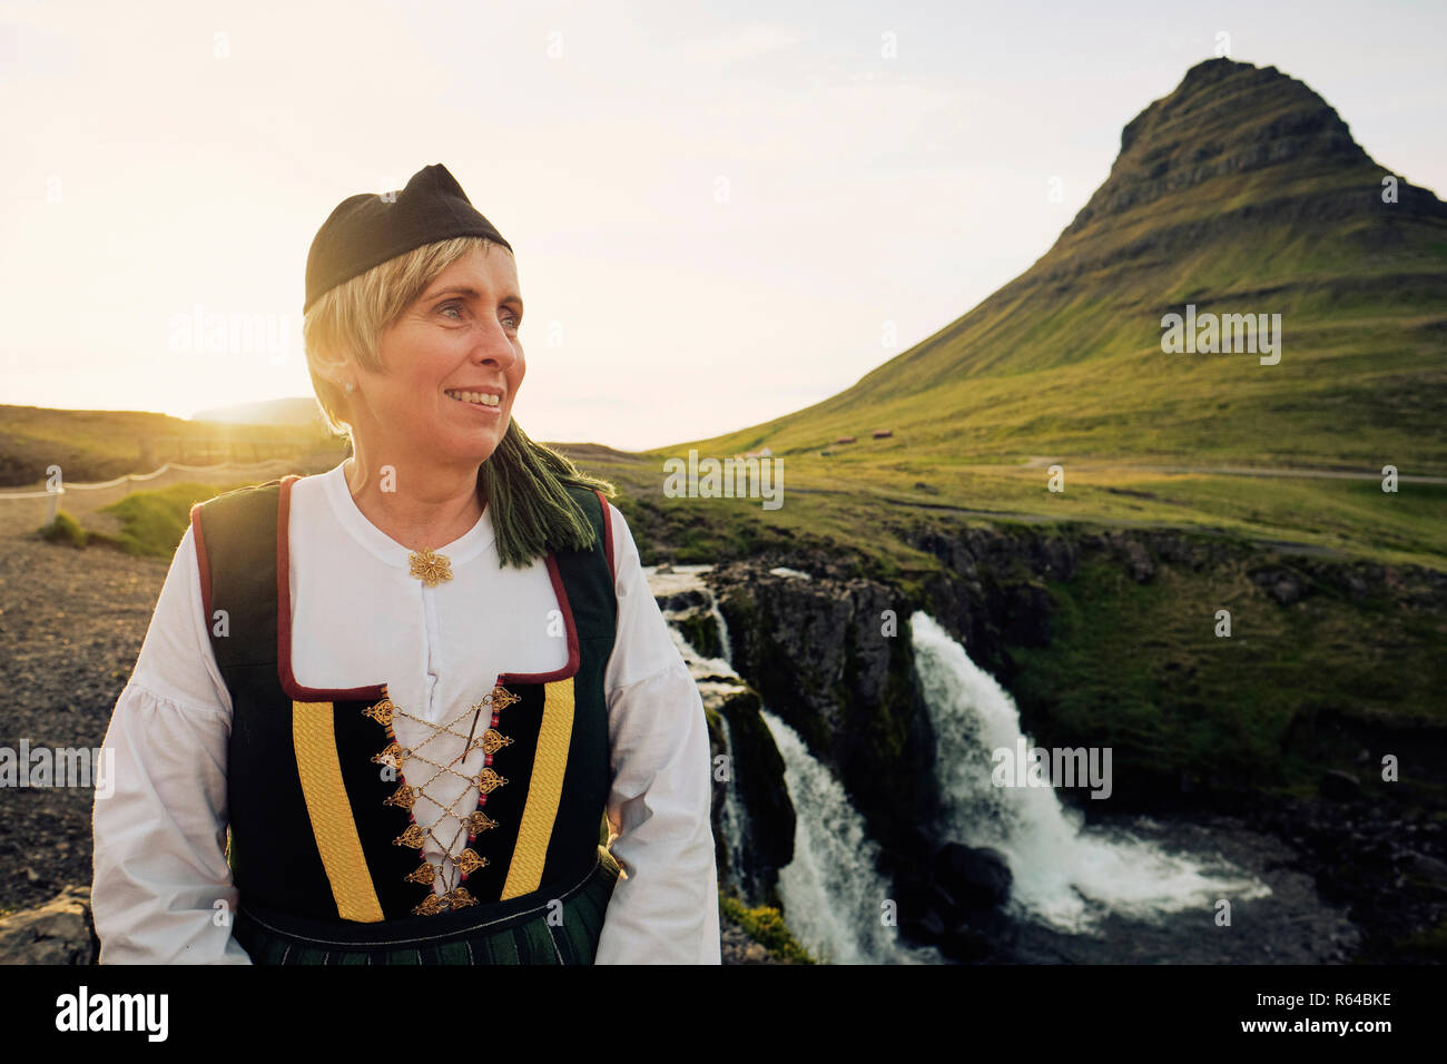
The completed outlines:
{"type": "Polygon", "coordinates": [[[881,507],[952,507],[1441,565],[1441,484],[1213,472],[1447,476],[1447,207],[1406,182],[1385,203],[1388,174],[1299,81],[1200,64],[1023,275],[823,402],[647,459],[767,446],[794,512],[739,520],[829,527],[842,492],[865,540],[881,507]],[[1281,360],[1165,353],[1162,317],[1188,303],[1279,314],[1281,360]],[[1062,465],[1064,494],[1032,456],[1062,465]]]}

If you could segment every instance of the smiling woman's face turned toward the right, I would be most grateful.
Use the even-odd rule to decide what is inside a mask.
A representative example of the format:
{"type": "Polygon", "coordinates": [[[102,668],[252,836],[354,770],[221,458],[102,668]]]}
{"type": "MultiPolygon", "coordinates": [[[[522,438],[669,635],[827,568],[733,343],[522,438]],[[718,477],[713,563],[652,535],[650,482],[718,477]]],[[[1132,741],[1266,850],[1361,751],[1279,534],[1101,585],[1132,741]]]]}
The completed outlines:
{"type": "Polygon", "coordinates": [[[353,408],[372,431],[373,462],[476,468],[486,462],[512,417],[527,365],[518,327],[522,297],[512,255],[493,245],[444,269],[379,340],[383,371],[357,368],[353,408]],[[469,392],[451,398],[449,392],[469,392]],[[496,405],[476,402],[496,395],[496,405]]]}

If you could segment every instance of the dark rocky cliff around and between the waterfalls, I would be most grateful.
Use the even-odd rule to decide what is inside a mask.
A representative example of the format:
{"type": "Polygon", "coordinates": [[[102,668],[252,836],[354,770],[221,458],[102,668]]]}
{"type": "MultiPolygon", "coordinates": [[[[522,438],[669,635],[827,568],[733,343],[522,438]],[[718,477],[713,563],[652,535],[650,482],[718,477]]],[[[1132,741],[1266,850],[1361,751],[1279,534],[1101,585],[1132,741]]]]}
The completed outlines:
{"type": "MultiPolygon", "coordinates": [[[[1205,534],[1091,531],[1069,525],[919,525],[912,540],[943,566],[919,582],[913,594],[890,580],[862,576],[838,556],[822,553],[731,562],[705,579],[729,625],[734,667],[757,689],[767,708],[790,724],[815,757],[829,766],[864,816],[870,835],[880,843],[883,871],[894,877],[901,911],[909,908],[912,912],[912,919],[901,919],[901,926],[942,945],[949,942],[945,941],[948,935],[939,934],[941,928],[965,934],[969,925],[978,929],[988,924],[981,918],[978,899],[971,909],[958,900],[961,895],[974,890],[998,898],[1003,884],[998,869],[988,860],[971,864],[969,854],[959,853],[962,847],[951,845],[952,840],[933,828],[939,808],[935,738],[915,676],[909,633],[909,617],[916,608],[933,615],[968,647],[971,659],[1007,689],[1019,677],[1019,656],[1052,643],[1056,612],[1052,591],[1072,580],[1085,565],[1106,566],[1129,585],[1149,585],[1169,570],[1210,578],[1215,570],[1244,565],[1250,583],[1272,608],[1289,609],[1312,596],[1347,604],[1385,598],[1395,611],[1428,618],[1433,624],[1440,625],[1447,614],[1447,576],[1443,573],[1282,556],[1205,534]],[[809,579],[771,573],[777,566],[809,573],[809,579]],[[897,627],[891,627],[891,618],[897,627]],[[933,928],[935,934],[920,928],[933,928]]],[[[1143,649],[1142,653],[1152,651],[1143,649]]],[[[1048,701],[1022,702],[1020,709],[1022,725],[1037,743],[1081,743],[1079,734],[1052,718],[1048,701]]],[[[1108,709],[1103,708],[1101,717],[1101,734],[1108,737],[1108,709]]],[[[752,861],[761,873],[755,889],[771,893],[773,873],[792,857],[793,824],[792,809],[786,808],[783,769],[752,701],[734,704],[729,719],[735,756],[742,763],[741,776],[752,777],[742,801],[751,819],[752,861]],[[778,864],[770,867],[776,860],[778,864]]],[[[1098,740],[1100,735],[1084,738],[1098,740]]],[[[1362,903],[1365,919],[1380,913],[1380,906],[1370,899],[1379,898],[1388,884],[1401,887],[1408,877],[1406,869],[1447,867],[1440,861],[1440,825],[1414,811],[1415,802],[1440,793],[1441,766],[1447,759],[1435,756],[1437,774],[1418,774],[1412,789],[1401,792],[1399,806],[1369,801],[1357,776],[1343,772],[1343,767],[1362,770],[1360,766],[1333,763],[1341,750],[1357,747],[1365,747],[1363,753],[1373,751],[1373,757],[1383,748],[1441,754],[1447,750],[1447,731],[1440,721],[1424,715],[1365,724],[1328,712],[1294,722],[1283,743],[1297,744],[1295,754],[1317,757],[1318,795],[1253,789],[1229,773],[1224,777],[1197,774],[1188,766],[1132,764],[1132,754],[1139,751],[1126,744],[1126,763],[1117,761],[1117,777],[1137,783],[1119,786],[1119,802],[1113,805],[1117,811],[1146,812],[1249,811],[1257,814],[1265,827],[1279,829],[1297,844],[1330,838],[1331,845],[1317,845],[1305,860],[1315,861],[1312,870],[1318,877],[1337,887],[1350,882],[1353,886],[1344,887],[1349,900],[1362,903]],[[1325,738],[1318,734],[1323,731],[1325,738]],[[1378,827],[1367,831],[1362,827],[1365,822],[1378,827]],[[1388,829],[1383,825],[1401,831],[1404,840],[1415,835],[1417,848],[1404,844],[1383,856],[1379,845],[1379,831],[1388,829]],[[1424,834],[1415,834],[1422,828],[1424,834]],[[1376,871],[1365,876],[1357,866],[1363,850],[1373,847],[1376,871]],[[1353,867],[1356,871],[1343,880],[1353,867]]],[[[1366,766],[1366,776],[1370,779],[1370,766],[1366,766]]],[[[988,857],[987,851],[981,854],[988,857]]],[[[1447,898],[1447,882],[1418,880],[1414,880],[1420,886],[1420,893],[1414,895],[1415,924],[1402,925],[1398,912],[1392,916],[1396,921],[1393,931],[1431,921],[1437,912],[1434,906],[1447,898]]],[[[1412,900],[1399,896],[1411,908],[1412,900]]],[[[961,934],[955,935],[956,948],[946,950],[949,955],[972,958],[987,953],[968,941],[961,944],[961,934]]]]}

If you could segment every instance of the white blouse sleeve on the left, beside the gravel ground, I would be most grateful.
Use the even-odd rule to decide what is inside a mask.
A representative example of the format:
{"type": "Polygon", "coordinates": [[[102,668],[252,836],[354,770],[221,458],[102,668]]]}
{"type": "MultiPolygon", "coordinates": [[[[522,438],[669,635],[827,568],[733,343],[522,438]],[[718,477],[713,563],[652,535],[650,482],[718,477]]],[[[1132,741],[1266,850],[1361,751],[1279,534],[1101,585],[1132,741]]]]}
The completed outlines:
{"type": "Polygon", "coordinates": [[[230,926],[230,730],[188,527],[101,747],[91,886],[100,964],[250,964],[230,926]]]}

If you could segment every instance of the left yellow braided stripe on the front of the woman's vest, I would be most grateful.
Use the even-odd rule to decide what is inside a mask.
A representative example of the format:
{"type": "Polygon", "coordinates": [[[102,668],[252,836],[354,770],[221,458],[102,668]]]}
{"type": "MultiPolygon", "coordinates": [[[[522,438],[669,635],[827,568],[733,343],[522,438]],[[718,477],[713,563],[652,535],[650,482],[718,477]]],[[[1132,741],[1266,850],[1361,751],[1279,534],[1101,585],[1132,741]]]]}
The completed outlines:
{"type": "Polygon", "coordinates": [[[341,919],[375,924],[382,919],[382,903],[376,899],[362,837],[352,818],[352,799],[341,782],[331,702],[292,702],[291,737],[311,834],[331,883],[337,913],[341,919]]]}

